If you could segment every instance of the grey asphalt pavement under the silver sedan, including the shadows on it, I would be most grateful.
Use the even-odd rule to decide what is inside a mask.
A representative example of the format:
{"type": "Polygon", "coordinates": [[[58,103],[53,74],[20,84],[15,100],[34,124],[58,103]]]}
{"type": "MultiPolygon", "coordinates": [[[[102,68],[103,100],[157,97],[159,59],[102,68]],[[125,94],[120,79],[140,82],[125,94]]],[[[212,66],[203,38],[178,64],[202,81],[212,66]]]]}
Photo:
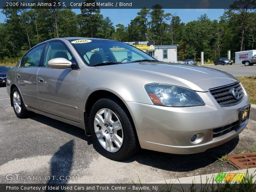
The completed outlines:
{"type": "MultiPolygon", "coordinates": [[[[210,174],[220,171],[216,157],[234,154],[236,147],[246,151],[256,146],[256,121],[250,120],[239,137],[206,152],[175,155],[140,150],[126,161],[115,162],[101,156],[79,128],[38,114],[18,119],[6,87],[0,87],[0,108],[0,183],[131,183],[138,177],[146,183],[210,174]],[[7,180],[7,174],[14,179],[7,180]],[[16,180],[13,174],[24,180],[20,176],[16,180]],[[29,180],[32,176],[38,180],[29,180]],[[75,180],[56,180],[59,176],[75,180]]],[[[230,170],[236,169],[224,164],[223,171],[230,170]]]]}

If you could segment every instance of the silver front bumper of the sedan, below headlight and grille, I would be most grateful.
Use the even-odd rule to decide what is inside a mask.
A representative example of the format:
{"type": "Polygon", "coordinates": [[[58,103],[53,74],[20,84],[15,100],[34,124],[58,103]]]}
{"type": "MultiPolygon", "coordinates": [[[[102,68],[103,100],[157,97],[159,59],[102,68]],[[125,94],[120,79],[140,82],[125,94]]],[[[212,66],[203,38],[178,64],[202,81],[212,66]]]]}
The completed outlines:
{"type": "Polygon", "coordinates": [[[213,138],[213,129],[239,120],[239,108],[250,105],[247,95],[235,106],[221,107],[209,92],[198,94],[205,106],[175,108],[126,102],[141,148],[172,154],[198,153],[228,142],[244,130],[248,120],[213,138]],[[197,132],[203,132],[204,139],[199,144],[192,144],[190,138],[197,132]]]}

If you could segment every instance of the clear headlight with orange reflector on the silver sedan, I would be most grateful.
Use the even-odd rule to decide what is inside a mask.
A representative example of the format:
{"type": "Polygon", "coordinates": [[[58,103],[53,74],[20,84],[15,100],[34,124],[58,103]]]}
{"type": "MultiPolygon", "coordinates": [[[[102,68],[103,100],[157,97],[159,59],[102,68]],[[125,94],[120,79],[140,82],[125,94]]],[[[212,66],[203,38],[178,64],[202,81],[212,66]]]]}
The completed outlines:
{"type": "Polygon", "coordinates": [[[152,102],[156,105],[172,107],[204,105],[203,100],[195,91],[184,87],[168,84],[147,84],[145,89],[152,102]]]}

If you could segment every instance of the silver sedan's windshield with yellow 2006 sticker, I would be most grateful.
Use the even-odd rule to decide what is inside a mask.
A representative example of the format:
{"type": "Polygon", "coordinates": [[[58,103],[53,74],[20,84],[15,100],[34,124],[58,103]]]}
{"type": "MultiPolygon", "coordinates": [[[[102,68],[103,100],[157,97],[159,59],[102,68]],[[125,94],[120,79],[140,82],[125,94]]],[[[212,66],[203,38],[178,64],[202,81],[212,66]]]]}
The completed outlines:
{"type": "Polygon", "coordinates": [[[98,39],[70,40],[88,66],[97,64],[120,64],[141,60],[154,60],[145,52],[122,42],[98,39]]]}

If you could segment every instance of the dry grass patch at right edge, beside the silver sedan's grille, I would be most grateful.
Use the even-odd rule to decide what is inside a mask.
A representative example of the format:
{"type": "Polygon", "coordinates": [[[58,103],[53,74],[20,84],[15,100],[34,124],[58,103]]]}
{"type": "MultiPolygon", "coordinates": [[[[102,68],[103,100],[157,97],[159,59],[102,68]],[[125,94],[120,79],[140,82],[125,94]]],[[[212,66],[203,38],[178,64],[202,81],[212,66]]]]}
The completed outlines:
{"type": "Polygon", "coordinates": [[[256,104],[256,76],[238,77],[238,80],[244,86],[251,104],[256,104]]]}

